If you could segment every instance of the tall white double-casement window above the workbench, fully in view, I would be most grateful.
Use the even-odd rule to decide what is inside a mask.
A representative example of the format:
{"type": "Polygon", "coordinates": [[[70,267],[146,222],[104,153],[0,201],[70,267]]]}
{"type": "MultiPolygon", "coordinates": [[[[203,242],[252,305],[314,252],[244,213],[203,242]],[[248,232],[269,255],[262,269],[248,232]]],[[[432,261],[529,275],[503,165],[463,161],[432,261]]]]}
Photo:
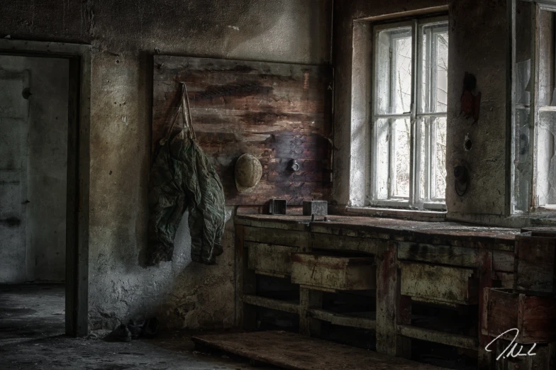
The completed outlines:
{"type": "Polygon", "coordinates": [[[443,209],[447,17],[373,33],[372,205],[443,209]]]}

